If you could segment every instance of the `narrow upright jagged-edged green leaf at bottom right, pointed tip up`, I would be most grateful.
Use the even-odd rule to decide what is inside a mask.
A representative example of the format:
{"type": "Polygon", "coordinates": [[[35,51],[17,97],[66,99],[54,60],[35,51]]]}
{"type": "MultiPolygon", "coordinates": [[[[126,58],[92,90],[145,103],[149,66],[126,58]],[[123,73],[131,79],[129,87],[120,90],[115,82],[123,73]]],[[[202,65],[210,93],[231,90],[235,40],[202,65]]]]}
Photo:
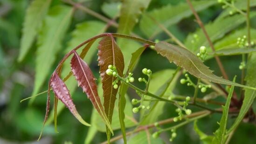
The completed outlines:
{"type": "MultiPolygon", "coordinates": [[[[236,76],[235,76],[236,77],[236,76]]],[[[233,79],[233,82],[235,82],[235,77],[233,79]]],[[[214,133],[214,138],[213,138],[213,144],[225,144],[226,141],[226,127],[227,127],[227,122],[228,122],[228,110],[229,110],[229,105],[231,103],[231,97],[233,95],[234,91],[234,86],[231,86],[228,92],[228,98],[226,101],[225,106],[222,106],[222,116],[221,116],[221,121],[220,121],[220,128],[217,129],[214,133]]]]}

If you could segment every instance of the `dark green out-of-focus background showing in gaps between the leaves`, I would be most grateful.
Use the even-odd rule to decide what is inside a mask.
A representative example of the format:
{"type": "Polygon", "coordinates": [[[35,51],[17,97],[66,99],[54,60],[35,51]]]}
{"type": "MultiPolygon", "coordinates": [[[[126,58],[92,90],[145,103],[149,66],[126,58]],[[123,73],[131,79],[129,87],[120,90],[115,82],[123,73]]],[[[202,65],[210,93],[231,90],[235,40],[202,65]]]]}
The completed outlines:
{"type": "MultiPolygon", "coordinates": [[[[42,94],[35,99],[33,104],[28,104],[28,101],[20,103],[21,99],[31,96],[34,88],[35,77],[35,51],[36,43],[34,42],[31,50],[26,55],[22,62],[18,62],[17,58],[20,51],[21,43],[21,28],[25,18],[26,9],[30,2],[33,0],[1,0],[0,1],[0,144],[12,144],[12,143],[35,143],[39,137],[42,122],[45,115],[46,94],[42,94]]],[[[108,16],[104,13],[102,6],[106,3],[118,2],[118,0],[78,0],[83,1],[83,5],[91,10],[108,16]]],[[[151,3],[146,11],[152,11],[153,9],[163,7],[166,5],[177,5],[185,0],[151,0],[151,3]]],[[[62,3],[59,0],[53,0],[51,7],[62,3]]],[[[199,13],[202,21],[208,23],[214,21],[214,19],[221,13],[221,5],[214,5],[199,13]]],[[[67,34],[64,36],[62,43],[61,53],[57,54],[57,61],[64,55],[67,42],[71,39],[71,32],[79,22],[83,21],[99,21],[97,18],[84,13],[83,11],[76,10],[72,17],[72,22],[68,28],[67,34]]],[[[36,20],[35,20],[36,21],[36,20]]],[[[256,27],[256,19],[252,19],[252,27],[256,27]]],[[[244,25],[243,25],[244,26],[244,25]]],[[[168,29],[180,39],[185,41],[187,35],[194,32],[198,28],[194,22],[194,17],[190,16],[183,19],[179,23],[168,27],[168,29]]],[[[116,29],[111,27],[107,32],[116,32],[116,29]]],[[[138,25],[135,26],[134,32],[143,37],[138,25]]],[[[146,37],[145,37],[146,38],[146,37]]],[[[168,36],[164,33],[158,34],[156,39],[165,40],[168,36]]],[[[93,69],[96,77],[98,77],[97,67],[97,55],[92,58],[90,67],[93,69]]],[[[241,62],[241,57],[228,56],[221,58],[224,66],[228,71],[229,77],[238,75],[238,65],[241,62]]],[[[216,75],[220,75],[220,72],[215,64],[214,60],[206,62],[211,69],[215,70],[216,75]]],[[[134,73],[137,74],[135,78],[138,78],[140,71],[143,68],[152,69],[152,72],[157,72],[162,69],[173,69],[176,66],[173,63],[169,63],[165,58],[156,54],[152,49],[147,49],[141,56],[137,68],[134,73]]],[[[54,70],[54,67],[52,68],[54,70]]],[[[49,74],[48,74],[49,77],[49,74]]],[[[47,79],[48,80],[48,79],[47,79]]],[[[47,89],[47,83],[45,82],[41,91],[47,89]]],[[[75,83],[76,85],[76,83],[75,83]]],[[[139,87],[143,87],[139,83],[135,83],[139,87]]],[[[239,92],[239,89],[236,89],[239,92]]],[[[193,89],[181,84],[177,84],[174,89],[175,93],[191,96],[193,89]],[[186,89],[186,90],[184,90],[186,89]]],[[[134,91],[129,89],[130,99],[137,97],[134,95],[134,91]]],[[[90,116],[92,113],[92,105],[87,99],[81,89],[77,89],[73,94],[73,100],[76,104],[76,108],[82,117],[90,122],[90,116]]],[[[220,101],[225,101],[220,98],[220,101]]],[[[51,99],[53,102],[53,98],[51,99]]],[[[128,101],[128,100],[127,100],[128,101]]],[[[175,116],[175,108],[172,105],[165,105],[164,114],[158,119],[166,119],[175,116]]],[[[195,109],[196,110],[196,109],[195,109]]],[[[220,119],[220,114],[214,114],[210,117],[199,120],[198,125],[202,131],[207,134],[212,134],[217,128],[217,121],[220,119]]],[[[135,116],[138,118],[138,116],[135,116]]],[[[231,121],[229,122],[231,123],[231,121]]],[[[167,127],[168,125],[166,125],[167,127]]],[[[63,144],[72,142],[74,144],[83,144],[85,137],[87,136],[89,128],[79,123],[75,117],[69,112],[68,109],[64,109],[58,116],[58,131],[55,133],[53,124],[49,124],[44,128],[43,137],[40,140],[40,144],[63,144]]],[[[120,135],[120,131],[115,132],[115,136],[120,135]]],[[[256,127],[248,123],[242,123],[236,130],[230,144],[255,144],[256,143],[256,127]]],[[[166,132],[162,136],[166,143],[170,137],[170,132],[166,132]]],[[[106,140],[104,132],[97,132],[92,140],[92,144],[97,144],[106,140]]],[[[117,143],[122,143],[118,141],[117,143]]],[[[143,142],[142,142],[143,143],[143,142]]],[[[194,132],[193,123],[190,123],[177,130],[177,138],[174,139],[175,144],[200,144],[198,135],[194,132]]]]}

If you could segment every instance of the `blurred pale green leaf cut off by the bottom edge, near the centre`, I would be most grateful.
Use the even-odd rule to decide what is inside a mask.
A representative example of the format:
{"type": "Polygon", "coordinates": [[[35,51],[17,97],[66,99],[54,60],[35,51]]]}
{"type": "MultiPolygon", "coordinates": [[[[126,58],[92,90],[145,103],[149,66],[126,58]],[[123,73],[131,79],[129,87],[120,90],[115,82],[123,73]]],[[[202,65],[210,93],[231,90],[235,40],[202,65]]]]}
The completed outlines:
{"type": "Polygon", "coordinates": [[[128,144],[163,144],[163,141],[160,137],[153,138],[151,134],[147,136],[145,131],[141,131],[135,136],[129,138],[128,144]]]}

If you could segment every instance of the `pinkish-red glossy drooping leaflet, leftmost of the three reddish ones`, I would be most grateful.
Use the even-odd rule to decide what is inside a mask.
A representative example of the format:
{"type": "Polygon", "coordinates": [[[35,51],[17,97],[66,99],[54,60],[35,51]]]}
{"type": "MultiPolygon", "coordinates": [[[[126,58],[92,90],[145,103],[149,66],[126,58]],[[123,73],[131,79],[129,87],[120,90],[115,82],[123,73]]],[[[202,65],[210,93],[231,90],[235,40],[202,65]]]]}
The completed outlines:
{"type": "Polygon", "coordinates": [[[66,105],[66,107],[76,117],[76,119],[80,123],[83,123],[86,126],[90,126],[90,124],[86,123],[77,112],[75,104],[73,103],[69,94],[69,89],[56,72],[53,73],[50,79],[50,85],[55,93],[55,96],[66,105]]]}

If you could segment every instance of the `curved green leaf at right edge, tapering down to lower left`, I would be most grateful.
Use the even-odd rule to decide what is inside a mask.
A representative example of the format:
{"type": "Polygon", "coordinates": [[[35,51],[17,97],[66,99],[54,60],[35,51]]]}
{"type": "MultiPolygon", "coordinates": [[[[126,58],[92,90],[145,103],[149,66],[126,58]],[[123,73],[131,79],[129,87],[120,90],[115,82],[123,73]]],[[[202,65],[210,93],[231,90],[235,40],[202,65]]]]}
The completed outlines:
{"type": "MultiPolygon", "coordinates": [[[[245,77],[246,85],[251,87],[256,87],[256,77],[255,77],[256,53],[252,53],[250,55],[249,61],[246,64],[246,66],[247,66],[247,73],[245,77]]],[[[242,121],[243,117],[246,115],[247,111],[250,109],[255,97],[256,97],[256,90],[245,89],[244,99],[242,101],[242,107],[240,109],[239,115],[235,119],[235,123],[228,130],[228,133],[236,129],[236,127],[242,121]]]]}

